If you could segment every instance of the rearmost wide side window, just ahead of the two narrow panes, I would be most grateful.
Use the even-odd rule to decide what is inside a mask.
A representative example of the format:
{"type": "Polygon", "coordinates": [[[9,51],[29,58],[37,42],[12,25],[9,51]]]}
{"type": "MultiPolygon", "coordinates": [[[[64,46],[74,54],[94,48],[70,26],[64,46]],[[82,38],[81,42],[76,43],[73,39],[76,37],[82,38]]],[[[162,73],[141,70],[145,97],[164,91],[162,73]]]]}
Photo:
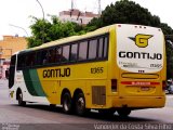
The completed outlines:
{"type": "Polygon", "coordinates": [[[89,42],[89,60],[96,58],[97,40],[90,40],[89,42]]]}

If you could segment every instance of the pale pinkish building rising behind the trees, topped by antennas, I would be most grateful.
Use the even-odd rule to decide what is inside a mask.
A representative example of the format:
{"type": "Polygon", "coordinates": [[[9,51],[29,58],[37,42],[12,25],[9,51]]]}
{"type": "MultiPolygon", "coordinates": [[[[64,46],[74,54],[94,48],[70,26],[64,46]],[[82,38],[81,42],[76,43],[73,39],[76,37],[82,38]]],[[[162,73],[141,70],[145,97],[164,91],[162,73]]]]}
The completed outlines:
{"type": "Polygon", "coordinates": [[[81,12],[77,9],[59,12],[59,20],[62,22],[75,22],[79,25],[86,25],[92,18],[98,17],[98,14],[92,12],[81,12]]]}

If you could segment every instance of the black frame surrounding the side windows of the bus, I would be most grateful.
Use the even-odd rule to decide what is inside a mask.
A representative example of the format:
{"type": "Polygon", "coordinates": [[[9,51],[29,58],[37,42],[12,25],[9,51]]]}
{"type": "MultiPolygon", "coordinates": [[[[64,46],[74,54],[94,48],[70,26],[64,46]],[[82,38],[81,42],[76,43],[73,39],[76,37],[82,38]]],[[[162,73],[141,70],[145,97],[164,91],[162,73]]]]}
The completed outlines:
{"type": "Polygon", "coordinates": [[[52,47],[49,47],[49,48],[43,48],[43,49],[36,50],[36,51],[29,51],[29,52],[23,51],[23,52],[19,52],[17,54],[17,58],[18,58],[19,55],[27,56],[30,53],[36,53],[35,65],[34,66],[28,66],[28,67],[26,67],[26,66],[25,67],[18,67],[18,63],[17,63],[17,70],[28,69],[28,68],[41,68],[41,67],[51,67],[51,66],[62,66],[62,65],[70,65],[70,64],[82,64],[82,63],[90,63],[90,62],[107,61],[108,60],[108,50],[109,50],[109,34],[106,32],[106,34],[103,34],[103,35],[89,37],[89,38],[83,38],[83,39],[80,39],[80,40],[75,40],[75,41],[66,42],[66,43],[62,43],[62,44],[56,44],[56,46],[52,46],[52,47]],[[103,50],[102,50],[102,57],[99,57],[99,46],[101,46],[99,42],[101,42],[102,38],[103,38],[103,50]],[[107,38],[107,42],[105,42],[105,38],[107,38]],[[92,41],[92,40],[96,40],[97,41],[97,43],[96,43],[96,57],[95,58],[89,58],[90,41],[92,41]],[[82,60],[82,61],[79,61],[80,43],[84,42],[84,41],[88,42],[86,58],[82,60]],[[105,49],[104,49],[105,48],[105,43],[107,43],[106,52],[104,52],[105,51],[105,49]],[[76,61],[71,61],[71,48],[72,48],[74,44],[77,44],[77,60],[76,61]],[[61,58],[59,62],[55,62],[55,63],[38,64],[38,62],[39,62],[38,54],[39,53],[41,53],[43,51],[49,52],[51,49],[55,49],[56,50],[56,49],[61,48],[61,55],[63,56],[63,51],[64,51],[63,48],[66,47],[66,46],[69,46],[69,58],[68,58],[68,61],[63,62],[62,58],[61,58]],[[104,57],[105,53],[106,53],[106,56],[104,57]]]}

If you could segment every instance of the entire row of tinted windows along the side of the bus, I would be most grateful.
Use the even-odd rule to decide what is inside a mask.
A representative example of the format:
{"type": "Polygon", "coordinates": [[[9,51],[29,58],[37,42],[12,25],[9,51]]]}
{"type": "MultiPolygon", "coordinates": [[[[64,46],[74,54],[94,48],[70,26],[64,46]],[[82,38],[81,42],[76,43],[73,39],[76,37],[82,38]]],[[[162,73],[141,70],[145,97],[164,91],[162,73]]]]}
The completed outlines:
{"type": "Polygon", "coordinates": [[[106,35],[76,42],[19,54],[17,69],[61,65],[69,62],[71,64],[77,61],[79,63],[81,61],[91,62],[90,60],[102,61],[108,56],[108,37],[106,35]]]}

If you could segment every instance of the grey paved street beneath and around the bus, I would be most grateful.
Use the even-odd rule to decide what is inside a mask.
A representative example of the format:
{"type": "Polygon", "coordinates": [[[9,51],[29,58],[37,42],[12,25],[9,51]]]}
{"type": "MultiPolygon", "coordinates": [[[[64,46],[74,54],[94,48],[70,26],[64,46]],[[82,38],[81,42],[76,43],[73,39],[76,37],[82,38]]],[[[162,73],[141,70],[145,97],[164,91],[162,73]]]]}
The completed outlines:
{"type": "Polygon", "coordinates": [[[6,80],[0,80],[0,128],[10,127],[19,129],[95,129],[96,123],[122,123],[122,122],[147,122],[147,123],[173,123],[173,95],[167,95],[164,108],[149,108],[134,110],[128,118],[102,117],[97,112],[92,112],[86,117],[63,114],[61,107],[51,109],[49,105],[27,104],[25,107],[17,106],[16,102],[9,99],[6,80]]]}

